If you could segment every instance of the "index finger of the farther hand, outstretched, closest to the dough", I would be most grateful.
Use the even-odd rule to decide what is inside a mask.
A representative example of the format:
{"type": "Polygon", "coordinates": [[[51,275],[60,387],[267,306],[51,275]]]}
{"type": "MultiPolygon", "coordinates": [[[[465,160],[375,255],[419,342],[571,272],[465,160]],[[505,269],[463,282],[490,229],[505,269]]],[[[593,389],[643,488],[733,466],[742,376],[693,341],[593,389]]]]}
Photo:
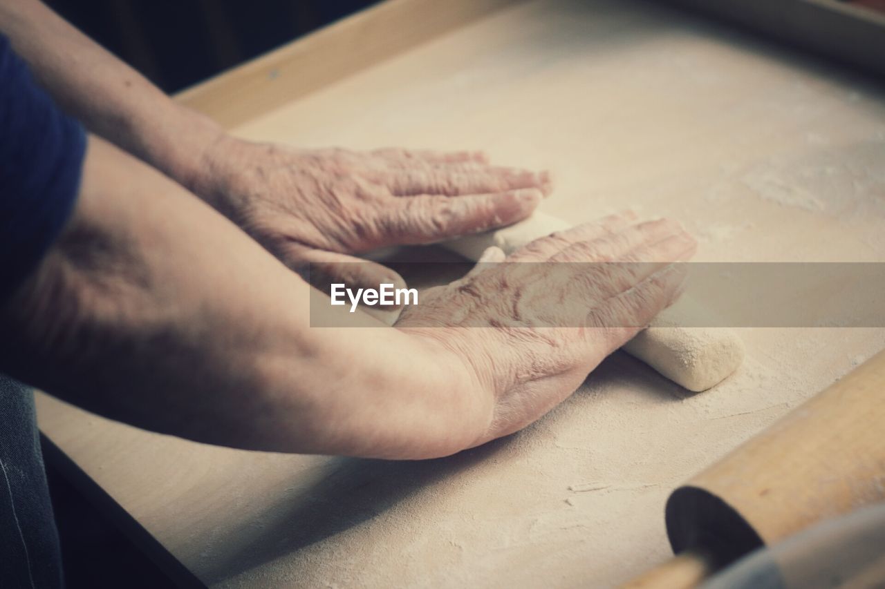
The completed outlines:
{"type": "Polygon", "coordinates": [[[391,243],[434,243],[516,223],[527,218],[541,198],[532,188],[459,198],[414,196],[396,201],[381,225],[391,243]]]}

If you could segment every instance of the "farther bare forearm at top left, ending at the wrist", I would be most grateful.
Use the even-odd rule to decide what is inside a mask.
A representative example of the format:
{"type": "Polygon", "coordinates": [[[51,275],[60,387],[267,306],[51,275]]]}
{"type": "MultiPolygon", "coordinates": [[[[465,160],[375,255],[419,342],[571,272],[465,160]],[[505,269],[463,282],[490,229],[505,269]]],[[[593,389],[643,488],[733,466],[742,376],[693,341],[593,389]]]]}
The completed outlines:
{"type": "Polygon", "coordinates": [[[90,131],[185,186],[220,129],[166,96],[38,0],[0,0],[0,31],[90,131]]]}

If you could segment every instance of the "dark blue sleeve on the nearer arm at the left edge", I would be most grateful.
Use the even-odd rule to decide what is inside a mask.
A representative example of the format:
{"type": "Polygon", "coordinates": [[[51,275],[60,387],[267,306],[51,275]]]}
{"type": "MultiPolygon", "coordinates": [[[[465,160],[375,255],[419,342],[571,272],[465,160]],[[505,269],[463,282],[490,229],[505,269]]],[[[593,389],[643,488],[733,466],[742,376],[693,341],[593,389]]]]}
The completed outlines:
{"type": "Polygon", "coordinates": [[[0,35],[0,302],[58,238],[80,187],[86,135],[0,35]]]}

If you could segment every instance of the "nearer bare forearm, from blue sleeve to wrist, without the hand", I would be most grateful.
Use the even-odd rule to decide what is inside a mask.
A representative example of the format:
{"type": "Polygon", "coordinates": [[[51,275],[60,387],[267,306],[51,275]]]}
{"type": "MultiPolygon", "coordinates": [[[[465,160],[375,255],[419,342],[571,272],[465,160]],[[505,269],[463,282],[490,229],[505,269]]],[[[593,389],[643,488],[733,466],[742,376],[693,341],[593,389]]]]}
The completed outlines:
{"type": "Polygon", "coordinates": [[[491,400],[456,357],[369,317],[311,328],[312,292],[181,187],[92,139],[69,226],[0,309],[0,370],[234,447],[427,457],[471,445],[491,400]]]}

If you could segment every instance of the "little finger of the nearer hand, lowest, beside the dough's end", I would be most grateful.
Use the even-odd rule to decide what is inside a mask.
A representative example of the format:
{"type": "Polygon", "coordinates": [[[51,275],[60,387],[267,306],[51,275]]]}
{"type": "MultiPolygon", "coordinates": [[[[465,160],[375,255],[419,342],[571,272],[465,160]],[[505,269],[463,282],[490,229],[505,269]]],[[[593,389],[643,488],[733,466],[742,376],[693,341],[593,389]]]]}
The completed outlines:
{"type": "Polygon", "coordinates": [[[679,298],[686,272],[686,264],[666,264],[635,287],[609,297],[589,311],[586,337],[603,340],[607,353],[620,348],[679,298]]]}

